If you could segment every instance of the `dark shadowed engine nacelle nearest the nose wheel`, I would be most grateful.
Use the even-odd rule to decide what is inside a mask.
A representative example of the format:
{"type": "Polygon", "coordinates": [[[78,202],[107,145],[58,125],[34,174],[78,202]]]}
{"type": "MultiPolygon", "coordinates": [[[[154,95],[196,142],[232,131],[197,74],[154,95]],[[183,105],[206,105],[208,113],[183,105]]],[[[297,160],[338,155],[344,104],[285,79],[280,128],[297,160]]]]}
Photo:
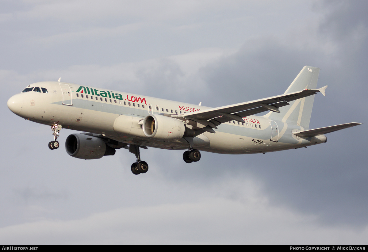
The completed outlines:
{"type": "Polygon", "coordinates": [[[80,159],[99,159],[115,154],[115,149],[96,136],[71,134],[65,141],[65,149],[72,157],[80,159]]]}

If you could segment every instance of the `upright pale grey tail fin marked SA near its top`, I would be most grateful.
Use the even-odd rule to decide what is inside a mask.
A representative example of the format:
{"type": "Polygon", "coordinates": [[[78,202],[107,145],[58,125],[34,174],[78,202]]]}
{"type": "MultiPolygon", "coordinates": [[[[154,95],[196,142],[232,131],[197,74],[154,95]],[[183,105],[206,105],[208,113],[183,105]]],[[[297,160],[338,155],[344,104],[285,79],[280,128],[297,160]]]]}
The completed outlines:
{"type": "MultiPolygon", "coordinates": [[[[303,89],[315,89],[317,87],[319,68],[305,66],[298,76],[286,89],[284,94],[303,89]]],[[[297,125],[308,128],[311,120],[314,95],[290,102],[290,105],[280,107],[281,113],[269,112],[265,117],[279,121],[291,121],[297,125]]]]}

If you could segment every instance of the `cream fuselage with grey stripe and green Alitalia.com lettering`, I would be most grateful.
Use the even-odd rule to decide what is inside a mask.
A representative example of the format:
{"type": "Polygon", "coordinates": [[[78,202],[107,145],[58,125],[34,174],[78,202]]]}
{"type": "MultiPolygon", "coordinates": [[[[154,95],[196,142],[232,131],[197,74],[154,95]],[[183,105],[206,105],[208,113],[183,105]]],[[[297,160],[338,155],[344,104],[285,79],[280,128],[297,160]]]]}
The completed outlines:
{"type": "MultiPolygon", "coordinates": [[[[119,142],[162,149],[193,147],[227,154],[264,153],[294,149],[326,141],[325,135],[298,138],[292,132],[306,128],[268,119],[244,117],[245,123],[229,121],[194,138],[162,141],[146,137],[140,121],[150,114],[185,117],[185,113],[208,107],[130,93],[79,86],[63,82],[37,82],[29,85],[47,89],[23,92],[11,97],[9,108],[18,116],[36,123],[60,124],[63,128],[101,134],[119,142]]],[[[184,123],[188,123],[184,122],[184,123]]],[[[198,125],[187,124],[196,128],[198,125]]],[[[197,128],[196,128],[197,129],[197,128]]]]}

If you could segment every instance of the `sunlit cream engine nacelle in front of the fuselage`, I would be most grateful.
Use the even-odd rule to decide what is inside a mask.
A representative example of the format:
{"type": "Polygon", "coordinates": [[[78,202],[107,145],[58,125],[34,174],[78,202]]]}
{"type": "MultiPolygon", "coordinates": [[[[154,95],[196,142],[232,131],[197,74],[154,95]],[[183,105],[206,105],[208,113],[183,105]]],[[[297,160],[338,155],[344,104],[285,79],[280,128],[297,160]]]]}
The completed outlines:
{"type": "Polygon", "coordinates": [[[149,115],[144,118],[142,128],[145,136],[160,141],[179,140],[185,134],[182,121],[161,115],[149,115]]]}

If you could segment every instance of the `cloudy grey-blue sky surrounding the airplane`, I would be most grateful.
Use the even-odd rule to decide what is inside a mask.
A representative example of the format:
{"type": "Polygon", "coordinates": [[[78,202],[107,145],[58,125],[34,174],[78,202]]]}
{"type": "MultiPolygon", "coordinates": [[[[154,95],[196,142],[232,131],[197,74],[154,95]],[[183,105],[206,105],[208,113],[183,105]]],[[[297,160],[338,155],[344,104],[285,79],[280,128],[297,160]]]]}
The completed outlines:
{"type": "Polygon", "coordinates": [[[367,244],[366,1],[0,3],[0,244],[367,244]],[[74,82],[204,106],[279,95],[321,68],[311,128],[360,122],[307,149],[142,150],[79,160],[8,98],[74,82]]]}

